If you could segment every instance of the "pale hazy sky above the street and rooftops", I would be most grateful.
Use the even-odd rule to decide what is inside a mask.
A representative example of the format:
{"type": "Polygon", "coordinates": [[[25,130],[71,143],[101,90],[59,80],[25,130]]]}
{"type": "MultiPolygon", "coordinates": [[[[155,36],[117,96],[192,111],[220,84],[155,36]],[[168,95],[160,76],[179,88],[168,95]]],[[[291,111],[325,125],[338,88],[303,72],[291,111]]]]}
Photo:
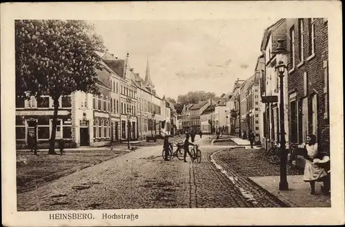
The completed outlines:
{"type": "Polygon", "coordinates": [[[144,79],[146,62],[160,97],[231,92],[254,74],[264,30],[273,19],[91,21],[108,51],[144,79]]]}

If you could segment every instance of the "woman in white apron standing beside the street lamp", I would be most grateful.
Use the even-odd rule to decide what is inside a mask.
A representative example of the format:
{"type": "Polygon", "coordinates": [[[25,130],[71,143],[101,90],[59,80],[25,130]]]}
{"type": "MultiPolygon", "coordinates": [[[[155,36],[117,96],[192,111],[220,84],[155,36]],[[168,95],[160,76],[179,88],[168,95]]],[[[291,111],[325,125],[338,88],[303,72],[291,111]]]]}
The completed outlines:
{"type": "Polygon", "coordinates": [[[311,195],[315,195],[315,181],[323,181],[324,186],[327,186],[327,172],[314,164],[313,160],[317,158],[317,142],[315,135],[311,134],[306,137],[306,166],[304,167],[303,179],[311,184],[311,195]]]}

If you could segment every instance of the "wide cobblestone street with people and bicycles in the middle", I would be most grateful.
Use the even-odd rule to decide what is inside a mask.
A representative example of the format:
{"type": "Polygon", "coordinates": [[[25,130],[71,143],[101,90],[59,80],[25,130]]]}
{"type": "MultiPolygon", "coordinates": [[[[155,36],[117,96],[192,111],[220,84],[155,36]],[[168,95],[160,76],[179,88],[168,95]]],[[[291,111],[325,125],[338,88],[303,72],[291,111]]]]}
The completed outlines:
{"type": "Polygon", "coordinates": [[[164,161],[161,146],[144,147],[19,193],[18,210],[283,206],[219,158],[229,151],[196,143],[200,164],[164,161]]]}

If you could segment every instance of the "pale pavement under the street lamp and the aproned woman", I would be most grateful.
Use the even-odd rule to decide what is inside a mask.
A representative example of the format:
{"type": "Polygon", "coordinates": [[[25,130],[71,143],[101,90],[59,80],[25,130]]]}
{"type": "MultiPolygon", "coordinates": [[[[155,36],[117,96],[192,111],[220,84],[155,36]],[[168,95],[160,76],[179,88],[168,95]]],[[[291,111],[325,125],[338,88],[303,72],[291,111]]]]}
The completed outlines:
{"type": "Polygon", "coordinates": [[[288,175],[289,190],[279,190],[279,176],[248,178],[290,207],[331,207],[331,195],[321,194],[322,182],[315,183],[315,195],[311,195],[311,186],[303,181],[303,175],[288,175]]]}

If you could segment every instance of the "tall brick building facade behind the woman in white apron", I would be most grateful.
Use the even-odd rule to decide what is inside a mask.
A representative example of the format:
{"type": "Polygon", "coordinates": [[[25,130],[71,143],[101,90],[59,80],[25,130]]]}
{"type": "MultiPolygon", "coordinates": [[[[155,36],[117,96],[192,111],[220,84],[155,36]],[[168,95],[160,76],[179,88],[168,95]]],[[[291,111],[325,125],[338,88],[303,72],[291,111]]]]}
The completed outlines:
{"type": "Polygon", "coordinates": [[[312,133],[329,151],[328,22],[287,19],[286,33],[290,140],[302,144],[312,133]]]}

